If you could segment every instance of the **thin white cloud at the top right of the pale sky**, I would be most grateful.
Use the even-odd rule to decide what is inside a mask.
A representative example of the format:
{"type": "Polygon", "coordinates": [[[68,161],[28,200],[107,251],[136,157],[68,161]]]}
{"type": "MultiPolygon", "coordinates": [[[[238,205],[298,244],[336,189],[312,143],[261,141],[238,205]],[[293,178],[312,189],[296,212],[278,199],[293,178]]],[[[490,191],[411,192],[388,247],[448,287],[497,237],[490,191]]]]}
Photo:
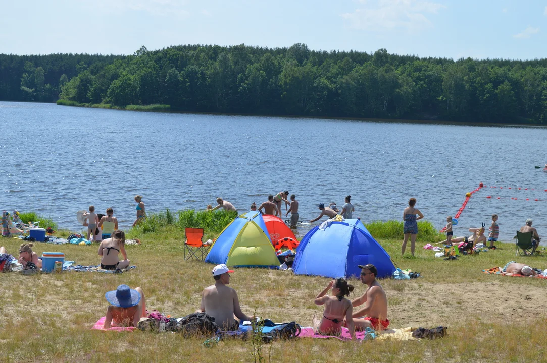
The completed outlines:
{"type": "Polygon", "coordinates": [[[359,8],[341,16],[352,28],[371,31],[432,27],[428,16],[445,8],[443,4],[422,0],[359,0],[359,3],[362,4],[359,8]]]}

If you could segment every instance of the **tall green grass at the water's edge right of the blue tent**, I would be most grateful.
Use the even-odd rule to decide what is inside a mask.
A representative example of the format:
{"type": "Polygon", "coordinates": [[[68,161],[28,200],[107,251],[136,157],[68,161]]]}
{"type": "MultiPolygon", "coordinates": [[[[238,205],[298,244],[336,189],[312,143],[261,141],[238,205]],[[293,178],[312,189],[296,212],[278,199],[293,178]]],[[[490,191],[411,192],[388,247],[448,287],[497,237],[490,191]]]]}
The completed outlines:
{"type": "MultiPolygon", "coordinates": [[[[375,239],[382,240],[402,240],[403,239],[403,221],[375,221],[365,224],[366,229],[375,239]]],[[[417,241],[433,243],[445,240],[443,234],[435,229],[431,222],[418,221],[417,241]]]]}

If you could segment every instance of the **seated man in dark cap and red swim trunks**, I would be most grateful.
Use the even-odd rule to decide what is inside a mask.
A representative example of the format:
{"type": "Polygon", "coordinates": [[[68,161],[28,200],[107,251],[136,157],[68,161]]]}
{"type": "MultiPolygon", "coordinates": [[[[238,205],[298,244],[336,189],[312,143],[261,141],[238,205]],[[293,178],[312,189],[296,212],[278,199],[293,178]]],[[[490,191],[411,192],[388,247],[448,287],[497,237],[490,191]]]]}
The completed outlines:
{"type": "MultiPolygon", "coordinates": [[[[365,328],[373,328],[374,330],[386,330],[389,326],[387,318],[387,296],[385,291],[376,281],[378,271],[373,264],[359,265],[361,269],[361,282],[368,285],[363,296],[351,302],[353,307],[364,305],[360,309],[353,311],[353,323],[355,330],[364,330],[365,328]]],[[[344,322],[346,326],[346,322],[344,322]]]]}

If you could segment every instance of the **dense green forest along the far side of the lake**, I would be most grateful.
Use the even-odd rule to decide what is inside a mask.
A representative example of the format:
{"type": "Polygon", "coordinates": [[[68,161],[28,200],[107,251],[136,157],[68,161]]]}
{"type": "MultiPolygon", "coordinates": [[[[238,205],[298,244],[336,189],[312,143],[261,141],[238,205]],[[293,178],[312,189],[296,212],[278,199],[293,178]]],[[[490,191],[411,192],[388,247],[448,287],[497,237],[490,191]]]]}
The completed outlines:
{"type": "Polygon", "coordinates": [[[0,55],[0,99],[259,115],[547,123],[547,59],[183,45],[0,55]]]}

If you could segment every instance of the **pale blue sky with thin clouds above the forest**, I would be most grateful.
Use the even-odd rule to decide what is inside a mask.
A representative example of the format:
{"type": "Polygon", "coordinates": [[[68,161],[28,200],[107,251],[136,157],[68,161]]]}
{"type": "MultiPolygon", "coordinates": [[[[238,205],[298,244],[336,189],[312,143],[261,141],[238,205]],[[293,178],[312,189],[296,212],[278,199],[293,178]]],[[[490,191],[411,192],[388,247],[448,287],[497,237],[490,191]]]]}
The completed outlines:
{"type": "Polygon", "coordinates": [[[0,0],[0,53],[180,44],[420,57],[547,57],[547,0],[0,0]]]}

